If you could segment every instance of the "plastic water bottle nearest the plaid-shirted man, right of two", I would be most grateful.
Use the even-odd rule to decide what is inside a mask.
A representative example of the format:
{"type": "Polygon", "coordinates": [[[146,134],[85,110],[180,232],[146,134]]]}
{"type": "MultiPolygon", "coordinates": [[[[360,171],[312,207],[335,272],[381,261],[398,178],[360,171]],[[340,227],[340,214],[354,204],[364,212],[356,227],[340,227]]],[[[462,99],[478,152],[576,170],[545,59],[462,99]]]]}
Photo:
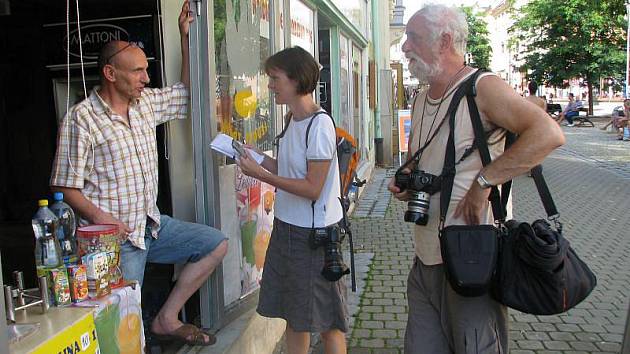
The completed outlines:
{"type": "Polygon", "coordinates": [[[57,239],[61,247],[63,263],[66,266],[76,264],[79,258],[77,257],[77,239],[75,237],[77,224],[74,211],[63,201],[63,193],[56,192],[54,199],[55,203],[50,206],[50,210],[59,219],[57,239]]]}

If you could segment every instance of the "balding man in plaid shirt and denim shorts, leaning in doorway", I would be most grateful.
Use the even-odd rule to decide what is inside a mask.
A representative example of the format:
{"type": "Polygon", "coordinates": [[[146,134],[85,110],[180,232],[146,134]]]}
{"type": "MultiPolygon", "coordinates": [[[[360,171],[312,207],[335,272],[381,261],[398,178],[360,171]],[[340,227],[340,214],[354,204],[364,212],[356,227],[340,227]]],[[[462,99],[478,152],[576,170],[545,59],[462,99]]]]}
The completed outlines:
{"type": "Polygon", "coordinates": [[[227,252],[227,239],[206,225],[160,215],[155,129],[188,114],[188,0],[179,15],[181,82],[164,89],[149,83],[147,58],[135,44],[114,41],[99,57],[101,86],[73,106],[59,129],[50,184],[81,216],[81,224],[116,224],[124,242],[121,269],[142,284],[147,261],[186,264],[151,324],[156,337],[191,345],[216,339],[184,324],[178,313],[227,252]]]}

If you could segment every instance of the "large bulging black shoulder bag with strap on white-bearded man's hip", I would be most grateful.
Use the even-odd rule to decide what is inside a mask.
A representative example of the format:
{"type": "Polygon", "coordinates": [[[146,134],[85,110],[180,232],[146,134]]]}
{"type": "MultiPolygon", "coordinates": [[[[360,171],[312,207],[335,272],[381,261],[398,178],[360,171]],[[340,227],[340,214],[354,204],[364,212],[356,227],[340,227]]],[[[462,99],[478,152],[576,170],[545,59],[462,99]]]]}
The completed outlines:
{"type": "MultiPolygon", "coordinates": [[[[490,164],[491,157],[479,109],[474,100],[476,95],[474,82],[479,73],[480,71],[475,73],[472,81],[467,83],[466,96],[475,133],[474,145],[479,150],[482,164],[486,166],[490,164]]],[[[514,134],[507,133],[506,147],[514,139],[514,134]]],[[[454,144],[449,140],[445,168],[454,169],[453,161],[454,144]],[[449,158],[448,151],[451,148],[453,157],[449,158]]],[[[498,302],[508,307],[534,315],[553,315],[565,312],[584,300],[595,288],[597,278],[562,234],[562,223],[559,221],[559,213],[542,175],[542,166],[534,167],[531,173],[547,217],[554,223],[554,227],[544,219],[538,219],[531,224],[515,220],[506,222],[505,206],[510,194],[511,181],[501,186],[501,193],[496,186],[492,187],[489,199],[495,221],[499,226],[496,228],[499,231],[496,237],[499,248],[496,271],[491,287],[488,288],[498,302]]],[[[452,178],[450,188],[452,189],[452,178]]],[[[450,191],[447,192],[450,199],[450,191]]],[[[444,199],[440,200],[441,204],[443,201],[444,199]]],[[[466,227],[470,228],[471,233],[475,232],[476,226],[460,228],[466,227]]],[[[446,233],[443,232],[442,236],[446,233]]],[[[459,256],[455,254],[454,258],[457,262],[459,256]]],[[[448,272],[447,274],[453,275],[448,272]]],[[[453,284],[453,280],[449,281],[453,284]]]]}

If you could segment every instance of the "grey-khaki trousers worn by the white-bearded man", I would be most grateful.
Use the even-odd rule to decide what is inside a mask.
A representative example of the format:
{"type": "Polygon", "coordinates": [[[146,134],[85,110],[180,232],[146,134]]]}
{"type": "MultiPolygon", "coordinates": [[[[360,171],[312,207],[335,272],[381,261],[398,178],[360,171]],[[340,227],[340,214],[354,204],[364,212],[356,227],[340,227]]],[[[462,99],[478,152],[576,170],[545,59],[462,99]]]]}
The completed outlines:
{"type": "Polygon", "coordinates": [[[507,308],[489,295],[463,297],[441,264],[416,257],[407,280],[405,354],[508,354],[507,308]]]}

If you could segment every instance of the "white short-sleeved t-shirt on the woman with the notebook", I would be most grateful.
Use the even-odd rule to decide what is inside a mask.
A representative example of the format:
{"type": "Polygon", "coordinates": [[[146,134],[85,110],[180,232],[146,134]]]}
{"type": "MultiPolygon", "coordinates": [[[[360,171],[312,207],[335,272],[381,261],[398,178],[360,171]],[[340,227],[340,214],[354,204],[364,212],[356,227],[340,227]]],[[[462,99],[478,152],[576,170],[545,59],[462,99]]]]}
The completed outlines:
{"type": "MultiPolygon", "coordinates": [[[[323,113],[301,121],[291,119],[280,139],[278,149],[278,176],[304,179],[306,160],[331,160],[324,187],[315,202],[315,227],[325,227],[339,222],[342,218],[339,202],[339,164],[337,144],[332,118],[323,113]],[[306,148],[306,128],[314,119],[306,148]]],[[[278,188],[276,192],[275,217],[295,226],[311,227],[313,211],[311,200],[291,194],[278,188]]]]}

